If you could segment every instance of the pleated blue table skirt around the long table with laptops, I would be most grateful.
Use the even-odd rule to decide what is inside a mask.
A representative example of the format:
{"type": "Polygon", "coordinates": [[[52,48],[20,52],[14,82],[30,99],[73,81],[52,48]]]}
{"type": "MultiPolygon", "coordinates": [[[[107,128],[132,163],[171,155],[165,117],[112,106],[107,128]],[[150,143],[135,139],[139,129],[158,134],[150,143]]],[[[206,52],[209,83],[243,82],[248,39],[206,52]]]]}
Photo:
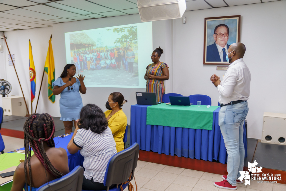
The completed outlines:
{"type": "MultiPolygon", "coordinates": [[[[190,157],[198,160],[227,162],[224,140],[218,125],[218,112],[213,113],[212,130],[146,125],[149,105],[131,105],[130,145],[137,142],[141,150],[190,157]]],[[[247,157],[246,131],[243,126],[243,142],[247,157]]]]}

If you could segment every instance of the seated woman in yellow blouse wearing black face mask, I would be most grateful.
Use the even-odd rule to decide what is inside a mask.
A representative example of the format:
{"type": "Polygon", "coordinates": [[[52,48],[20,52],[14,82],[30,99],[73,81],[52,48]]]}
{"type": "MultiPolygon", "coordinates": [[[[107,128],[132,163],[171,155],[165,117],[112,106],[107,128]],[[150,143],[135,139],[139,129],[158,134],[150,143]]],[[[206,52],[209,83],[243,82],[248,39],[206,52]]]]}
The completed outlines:
{"type": "Polygon", "coordinates": [[[127,102],[120,92],[113,92],[109,95],[104,112],[108,121],[108,127],[113,133],[117,152],[124,150],[123,137],[127,125],[127,117],[121,107],[127,102]]]}

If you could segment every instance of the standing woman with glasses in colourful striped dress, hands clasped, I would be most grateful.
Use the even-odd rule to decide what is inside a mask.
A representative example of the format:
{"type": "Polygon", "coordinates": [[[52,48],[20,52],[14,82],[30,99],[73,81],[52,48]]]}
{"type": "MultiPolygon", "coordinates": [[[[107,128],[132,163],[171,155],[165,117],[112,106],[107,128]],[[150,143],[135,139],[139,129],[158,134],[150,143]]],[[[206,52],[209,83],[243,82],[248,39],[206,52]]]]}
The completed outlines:
{"type": "Polygon", "coordinates": [[[144,76],[147,80],[146,92],[156,93],[157,102],[161,102],[165,94],[164,80],[169,80],[169,67],[166,63],[159,61],[161,54],[163,54],[163,49],[160,47],[153,51],[151,55],[153,64],[147,66],[144,76]]]}

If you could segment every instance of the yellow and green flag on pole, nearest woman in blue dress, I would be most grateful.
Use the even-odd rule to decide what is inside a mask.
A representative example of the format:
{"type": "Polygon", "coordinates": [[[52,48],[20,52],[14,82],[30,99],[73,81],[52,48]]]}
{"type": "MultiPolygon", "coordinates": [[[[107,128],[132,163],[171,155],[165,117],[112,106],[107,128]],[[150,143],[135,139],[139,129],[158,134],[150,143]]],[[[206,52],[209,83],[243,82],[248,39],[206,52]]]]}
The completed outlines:
{"type": "Polygon", "coordinates": [[[48,54],[45,62],[45,73],[48,74],[48,96],[52,103],[55,103],[56,96],[53,94],[52,83],[55,81],[55,63],[52,48],[52,37],[49,40],[48,54]]]}

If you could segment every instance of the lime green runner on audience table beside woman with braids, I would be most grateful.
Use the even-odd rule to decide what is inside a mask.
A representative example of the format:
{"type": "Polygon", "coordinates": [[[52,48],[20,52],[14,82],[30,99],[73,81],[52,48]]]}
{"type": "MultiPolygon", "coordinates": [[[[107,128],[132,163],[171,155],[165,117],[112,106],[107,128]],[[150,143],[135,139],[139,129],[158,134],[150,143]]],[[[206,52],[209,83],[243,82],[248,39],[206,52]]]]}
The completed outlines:
{"type": "MultiPolygon", "coordinates": [[[[33,155],[32,151],[32,155],[33,155]]],[[[12,166],[18,166],[20,159],[25,160],[25,154],[22,153],[4,153],[0,155],[0,171],[10,168],[12,166]]],[[[9,182],[3,186],[0,186],[0,191],[10,191],[13,182],[9,182]]]]}

